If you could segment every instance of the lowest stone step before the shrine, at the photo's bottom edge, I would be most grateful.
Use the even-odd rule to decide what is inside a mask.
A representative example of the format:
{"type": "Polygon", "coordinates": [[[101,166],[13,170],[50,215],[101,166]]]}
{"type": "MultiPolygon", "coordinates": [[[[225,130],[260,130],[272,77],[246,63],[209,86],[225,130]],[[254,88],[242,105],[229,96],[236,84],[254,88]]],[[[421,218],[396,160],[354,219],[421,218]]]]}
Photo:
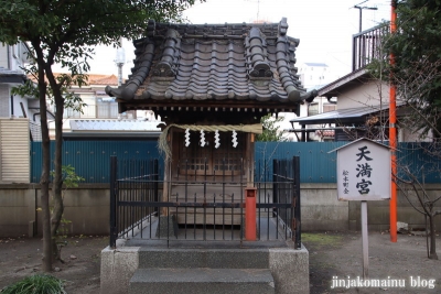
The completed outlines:
{"type": "Polygon", "coordinates": [[[129,294],[273,294],[268,269],[138,269],[129,294]]]}

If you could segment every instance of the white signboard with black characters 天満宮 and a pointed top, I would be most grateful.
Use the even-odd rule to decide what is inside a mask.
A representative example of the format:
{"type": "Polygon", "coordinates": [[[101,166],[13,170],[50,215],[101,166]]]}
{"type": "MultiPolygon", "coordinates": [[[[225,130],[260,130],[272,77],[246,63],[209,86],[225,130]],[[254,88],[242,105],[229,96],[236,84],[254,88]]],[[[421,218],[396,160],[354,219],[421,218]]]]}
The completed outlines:
{"type": "Polygon", "coordinates": [[[337,152],[338,200],[384,200],[390,198],[389,148],[359,139],[337,152]]]}

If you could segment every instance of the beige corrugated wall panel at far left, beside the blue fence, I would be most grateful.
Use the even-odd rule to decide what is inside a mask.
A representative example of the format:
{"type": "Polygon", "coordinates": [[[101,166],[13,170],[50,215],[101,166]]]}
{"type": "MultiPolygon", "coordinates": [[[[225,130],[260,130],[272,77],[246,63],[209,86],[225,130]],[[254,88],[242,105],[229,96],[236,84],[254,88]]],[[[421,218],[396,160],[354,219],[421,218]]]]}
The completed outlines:
{"type": "Polygon", "coordinates": [[[0,118],[0,182],[30,183],[29,120],[0,118]]]}

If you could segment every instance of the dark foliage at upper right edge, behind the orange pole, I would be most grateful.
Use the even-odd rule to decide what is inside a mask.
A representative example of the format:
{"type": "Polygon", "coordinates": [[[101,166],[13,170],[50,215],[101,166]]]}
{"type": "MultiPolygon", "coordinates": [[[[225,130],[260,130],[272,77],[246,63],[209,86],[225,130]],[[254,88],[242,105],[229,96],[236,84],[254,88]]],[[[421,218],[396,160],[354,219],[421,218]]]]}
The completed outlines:
{"type": "Polygon", "coordinates": [[[441,2],[405,0],[396,11],[397,30],[381,37],[379,58],[369,68],[411,108],[409,127],[441,138],[441,2]]]}

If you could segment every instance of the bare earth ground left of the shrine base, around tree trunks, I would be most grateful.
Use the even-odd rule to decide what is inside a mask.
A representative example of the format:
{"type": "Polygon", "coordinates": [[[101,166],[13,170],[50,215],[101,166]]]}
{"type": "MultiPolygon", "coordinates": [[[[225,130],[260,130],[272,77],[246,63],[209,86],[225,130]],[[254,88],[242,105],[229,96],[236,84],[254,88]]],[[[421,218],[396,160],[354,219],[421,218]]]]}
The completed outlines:
{"type": "MultiPolygon", "coordinates": [[[[55,264],[60,271],[53,272],[53,275],[66,281],[67,293],[99,293],[100,252],[107,244],[107,237],[68,238],[68,244],[62,250],[65,263],[55,264]]],[[[40,238],[0,239],[0,290],[41,272],[42,246],[40,238]]]]}

